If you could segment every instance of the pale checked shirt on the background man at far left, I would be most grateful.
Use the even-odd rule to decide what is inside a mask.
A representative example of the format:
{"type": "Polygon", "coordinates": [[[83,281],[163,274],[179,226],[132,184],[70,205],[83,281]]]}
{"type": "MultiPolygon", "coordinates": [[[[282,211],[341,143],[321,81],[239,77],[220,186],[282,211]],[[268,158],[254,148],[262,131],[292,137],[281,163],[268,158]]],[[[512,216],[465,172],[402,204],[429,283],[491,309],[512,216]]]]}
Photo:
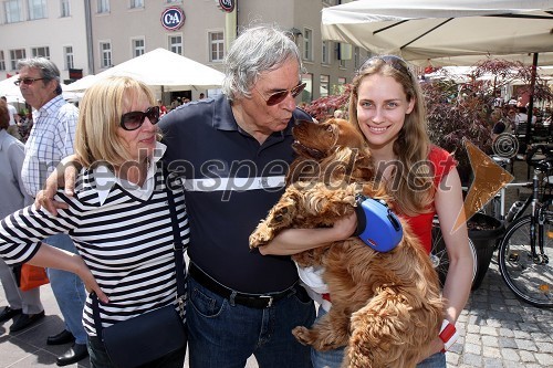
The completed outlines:
{"type": "Polygon", "coordinates": [[[62,158],[73,154],[79,109],[59,95],[33,112],[33,127],[25,143],[21,178],[27,192],[36,197],[62,158]]]}

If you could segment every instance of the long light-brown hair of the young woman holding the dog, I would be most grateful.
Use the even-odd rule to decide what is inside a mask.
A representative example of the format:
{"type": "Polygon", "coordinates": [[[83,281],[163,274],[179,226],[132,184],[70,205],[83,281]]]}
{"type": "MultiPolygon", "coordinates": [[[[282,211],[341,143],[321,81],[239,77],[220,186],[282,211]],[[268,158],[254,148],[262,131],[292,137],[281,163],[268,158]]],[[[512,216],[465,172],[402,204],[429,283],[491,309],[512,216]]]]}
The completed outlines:
{"type": "MultiPolygon", "coordinates": [[[[398,56],[385,55],[367,60],[357,72],[352,84],[349,96],[349,119],[361,132],[357,120],[357,102],[359,85],[365,77],[373,74],[390,76],[399,83],[407,96],[407,101],[415,99],[413,112],[405,116],[405,123],[394,141],[394,155],[399,165],[394,171],[394,180],[387,183],[389,194],[396,201],[396,207],[405,214],[414,215],[430,210],[436,188],[434,186],[431,165],[416,165],[427,162],[430,150],[430,140],[427,133],[426,108],[422,92],[418,81],[405,61],[398,56]],[[418,172],[410,172],[419,168],[418,172]],[[428,169],[430,171],[428,171],[428,169]],[[394,185],[390,188],[392,183],[394,185]],[[419,190],[415,190],[415,189],[419,190]]],[[[378,162],[375,162],[377,167],[378,162]]]]}

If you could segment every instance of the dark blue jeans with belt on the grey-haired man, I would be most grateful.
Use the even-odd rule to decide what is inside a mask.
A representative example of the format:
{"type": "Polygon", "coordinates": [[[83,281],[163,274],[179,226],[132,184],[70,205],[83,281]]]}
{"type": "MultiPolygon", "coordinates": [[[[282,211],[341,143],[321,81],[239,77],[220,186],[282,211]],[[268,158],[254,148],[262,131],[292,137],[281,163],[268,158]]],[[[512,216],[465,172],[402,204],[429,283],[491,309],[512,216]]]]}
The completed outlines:
{"type": "Polygon", "coordinates": [[[190,368],[243,368],[253,354],[260,368],[311,368],[310,348],[292,335],[311,326],[313,301],[296,293],[264,309],[231,303],[188,276],[186,306],[190,368]]]}

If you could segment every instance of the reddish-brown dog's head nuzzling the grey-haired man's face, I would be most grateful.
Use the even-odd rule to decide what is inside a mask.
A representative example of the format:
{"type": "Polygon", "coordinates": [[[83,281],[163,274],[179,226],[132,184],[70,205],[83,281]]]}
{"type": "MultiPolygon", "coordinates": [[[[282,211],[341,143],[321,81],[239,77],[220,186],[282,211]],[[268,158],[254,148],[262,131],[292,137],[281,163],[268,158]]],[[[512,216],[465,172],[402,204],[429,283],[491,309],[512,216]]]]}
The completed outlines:
{"type": "Polygon", "coordinates": [[[366,147],[363,135],[345,119],[331,118],[324,123],[300,122],[293,128],[295,153],[305,158],[322,159],[336,147],[366,147]]]}

